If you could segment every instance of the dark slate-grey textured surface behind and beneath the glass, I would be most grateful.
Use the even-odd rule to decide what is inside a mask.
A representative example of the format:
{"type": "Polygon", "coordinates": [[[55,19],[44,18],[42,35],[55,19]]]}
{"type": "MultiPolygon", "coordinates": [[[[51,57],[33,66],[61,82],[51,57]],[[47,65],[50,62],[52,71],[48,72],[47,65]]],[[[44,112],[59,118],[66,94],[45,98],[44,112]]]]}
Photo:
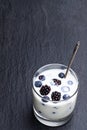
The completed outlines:
{"type": "Polygon", "coordinates": [[[86,130],[86,100],[87,1],[0,0],[0,130],[86,130]],[[78,40],[74,116],[62,127],[47,127],[33,115],[33,74],[48,63],[67,65],[78,40]]]}

